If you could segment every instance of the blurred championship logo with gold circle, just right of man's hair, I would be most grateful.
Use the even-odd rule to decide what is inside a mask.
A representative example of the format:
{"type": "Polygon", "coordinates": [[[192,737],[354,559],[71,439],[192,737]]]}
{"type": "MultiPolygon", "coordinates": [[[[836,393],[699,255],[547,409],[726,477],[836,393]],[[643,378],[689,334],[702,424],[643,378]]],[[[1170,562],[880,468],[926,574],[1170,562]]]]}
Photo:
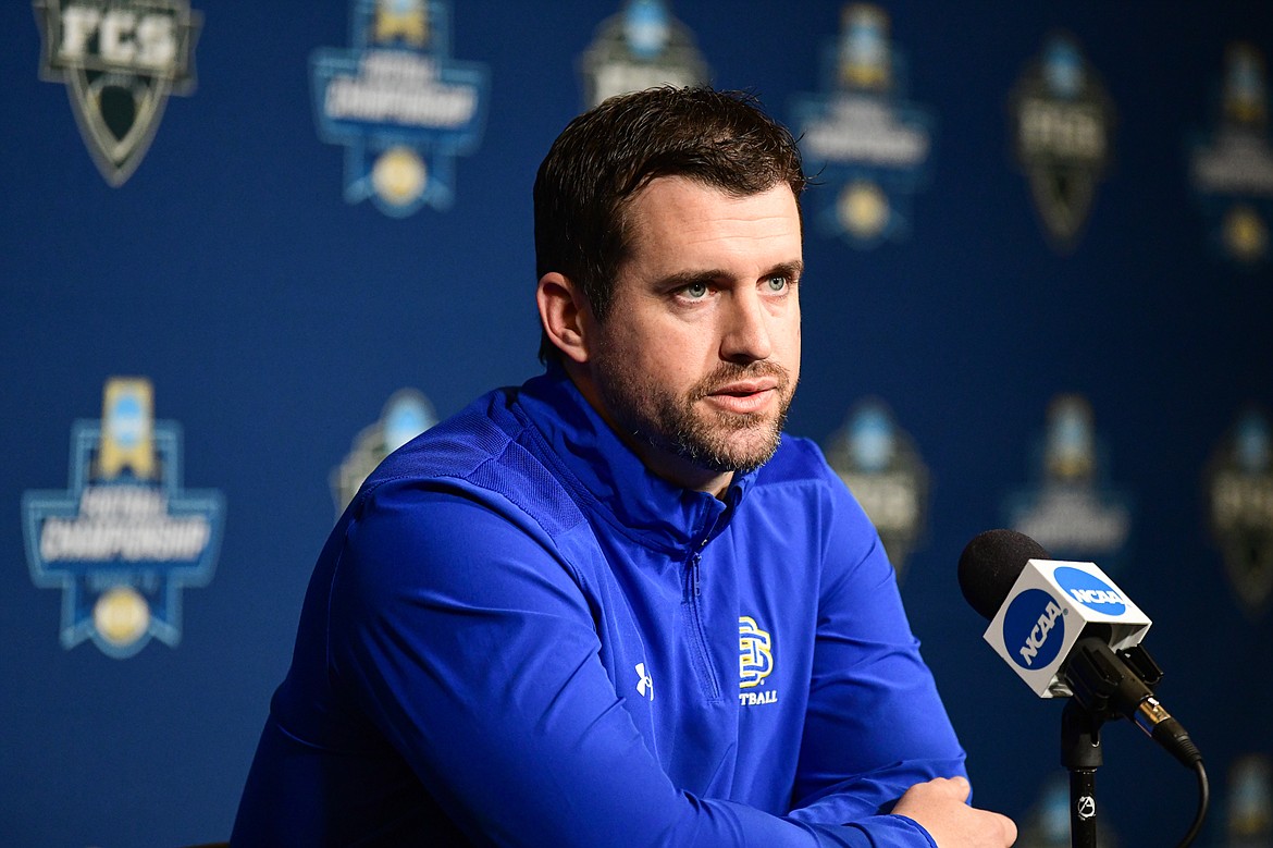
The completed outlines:
{"type": "Polygon", "coordinates": [[[815,215],[855,247],[901,241],[927,181],[934,118],[905,99],[906,61],[878,6],[845,6],[839,39],[822,53],[822,92],[797,95],[792,108],[808,171],[835,188],[815,215]]]}

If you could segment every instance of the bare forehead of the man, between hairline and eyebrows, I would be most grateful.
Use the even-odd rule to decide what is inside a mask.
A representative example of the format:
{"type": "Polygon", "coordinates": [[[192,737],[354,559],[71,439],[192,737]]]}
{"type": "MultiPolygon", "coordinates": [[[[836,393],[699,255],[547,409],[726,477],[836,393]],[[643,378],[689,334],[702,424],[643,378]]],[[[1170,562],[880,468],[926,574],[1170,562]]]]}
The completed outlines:
{"type": "Polygon", "coordinates": [[[684,177],[659,177],[633,199],[626,229],[625,264],[648,272],[705,264],[746,275],[801,258],[799,208],[787,183],[735,196],[684,177]]]}

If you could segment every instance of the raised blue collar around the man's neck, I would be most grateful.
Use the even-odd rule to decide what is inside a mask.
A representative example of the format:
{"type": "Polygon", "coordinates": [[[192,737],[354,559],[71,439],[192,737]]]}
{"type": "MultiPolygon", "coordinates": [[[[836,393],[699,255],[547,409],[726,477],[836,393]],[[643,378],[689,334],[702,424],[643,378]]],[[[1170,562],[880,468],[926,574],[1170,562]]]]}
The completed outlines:
{"type": "Polygon", "coordinates": [[[579,505],[651,548],[684,549],[719,534],[756,475],[735,475],[723,502],[656,476],[558,364],[522,386],[518,405],[579,505]]]}

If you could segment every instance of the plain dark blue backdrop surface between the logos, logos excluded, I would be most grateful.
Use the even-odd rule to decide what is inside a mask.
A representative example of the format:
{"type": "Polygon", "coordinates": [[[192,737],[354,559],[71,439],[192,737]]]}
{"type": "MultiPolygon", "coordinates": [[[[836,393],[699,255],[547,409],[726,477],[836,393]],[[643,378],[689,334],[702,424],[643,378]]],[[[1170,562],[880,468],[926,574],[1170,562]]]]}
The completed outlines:
{"type": "MultiPolygon", "coordinates": [[[[197,84],[168,99],[118,187],[94,166],[66,87],[39,76],[42,13],[0,6],[9,844],[225,838],[335,517],[332,470],[401,387],[447,415],[538,369],[531,185],[584,106],[579,57],[620,1],[454,0],[452,56],[489,71],[481,138],[453,160],[448,209],[400,218],[344,200],[345,150],[318,135],[311,55],[350,46],[351,6],[196,0],[197,84]],[[102,418],[113,376],[149,378],[155,418],[183,432],[185,485],[225,504],[215,573],[181,591],[179,642],[122,660],[90,640],[62,647],[64,592],[36,586],[22,518],[23,493],[66,486],[71,428],[102,418]]],[[[717,87],[755,89],[784,121],[822,90],[841,3],[676,6],[717,87]]],[[[1189,168],[1192,144],[1217,125],[1226,48],[1245,39],[1273,56],[1273,8],[883,9],[931,152],[903,237],[864,247],[808,228],[789,429],[827,443],[875,396],[909,433],[932,485],[905,600],[979,803],[1025,823],[1059,770],[1060,704],[1034,698],[981,642],[955,564],[1031,485],[1051,399],[1086,397],[1105,474],[1133,504],[1116,578],[1155,620],[1160,694],[1216,783],[1206,842],[1227,844],[1230,767],[1273,755],[1273,616],[1248,610],[1226,577],[1207,463],[1244,409],[1273,406],[1273,272],[1212,243],[1189,168]],[[1044,232],[1008,104],[1058,29],[1116,113],[1110,164],[1068,250],[1044,232]]],[[[835,190],[815,187],[810,202],[835,190]]],[[[1119,842],[1174,844],[1194,805],[1189,774],[1130,726],[1110,727],[1105,749],[1102,812],[1119,842]]]]}

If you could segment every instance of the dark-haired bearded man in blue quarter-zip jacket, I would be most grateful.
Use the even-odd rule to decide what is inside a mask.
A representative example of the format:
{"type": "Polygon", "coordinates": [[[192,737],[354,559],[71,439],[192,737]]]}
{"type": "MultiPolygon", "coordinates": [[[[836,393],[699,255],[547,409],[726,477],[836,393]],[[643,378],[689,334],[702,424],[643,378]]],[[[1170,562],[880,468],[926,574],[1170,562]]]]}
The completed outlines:
{"type": "Polygon", "coordinates": [[[799,376],[799,154],[745,98],[573,121],[547,373],[391,456],[314,572],[236,844],[1008,845],[799,376]]]}

